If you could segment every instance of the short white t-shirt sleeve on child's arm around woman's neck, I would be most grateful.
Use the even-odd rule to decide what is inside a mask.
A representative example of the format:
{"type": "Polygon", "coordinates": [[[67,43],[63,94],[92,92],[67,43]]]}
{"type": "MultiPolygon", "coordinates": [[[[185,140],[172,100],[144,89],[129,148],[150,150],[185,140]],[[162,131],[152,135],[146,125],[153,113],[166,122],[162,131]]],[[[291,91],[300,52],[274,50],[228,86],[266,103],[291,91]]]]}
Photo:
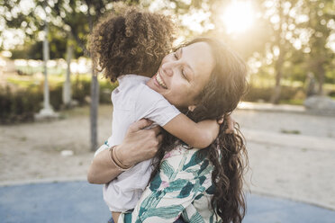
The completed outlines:
{"type": "Polygon", "coordinates": [[[138,89],[134,109],[137,120],[153,120],[159,126],[164,126],[180,114],[174,105],[147,85],[141,85],[138,89]]]}

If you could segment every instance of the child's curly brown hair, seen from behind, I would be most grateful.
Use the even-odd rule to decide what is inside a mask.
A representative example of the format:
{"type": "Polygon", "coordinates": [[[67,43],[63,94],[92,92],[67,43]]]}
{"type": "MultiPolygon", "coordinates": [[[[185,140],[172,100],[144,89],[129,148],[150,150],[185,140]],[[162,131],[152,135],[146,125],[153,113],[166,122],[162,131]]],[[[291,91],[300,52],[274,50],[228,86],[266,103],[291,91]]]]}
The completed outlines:
{"type": "Polygon", "coordinates": [[[88,49],[97,71],[118,76],[153,76],[172,49],[175,27],[168,16],[130,7],[110,13],[95,26],[88,49]]]}

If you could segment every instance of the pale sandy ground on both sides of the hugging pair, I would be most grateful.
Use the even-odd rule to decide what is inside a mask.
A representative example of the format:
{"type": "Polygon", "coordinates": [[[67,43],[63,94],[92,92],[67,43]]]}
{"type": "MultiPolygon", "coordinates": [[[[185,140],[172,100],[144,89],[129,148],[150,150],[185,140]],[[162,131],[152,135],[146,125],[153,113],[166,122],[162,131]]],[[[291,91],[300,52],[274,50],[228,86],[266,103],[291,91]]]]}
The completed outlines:
{"type": "MultiPolygon", "coordinates": [[[[103,143],[111,130],[110,105],[100,106],[103,143]]],[[[86,179],[88,108],[62,120],[0,126],[0,184],[86,179]],[[61,156],[71,149],[74,156],[61,156]]],[[[258,109],[234,112],[247,138],[250,170],[246,189],[335,210],[335,117],[258,109]]]]}

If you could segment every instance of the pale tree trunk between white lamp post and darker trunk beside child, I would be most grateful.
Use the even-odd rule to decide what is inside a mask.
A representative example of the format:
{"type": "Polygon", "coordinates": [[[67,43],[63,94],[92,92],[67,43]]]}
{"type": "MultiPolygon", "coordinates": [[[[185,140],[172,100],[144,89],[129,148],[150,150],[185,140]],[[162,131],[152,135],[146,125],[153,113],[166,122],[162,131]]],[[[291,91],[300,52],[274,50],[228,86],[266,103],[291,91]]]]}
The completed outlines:
{"type": "Polygon", "coordinates": [[[63,103],[65,107],[69,107],[71,105],[71,59],[73,55],[73,45],[68,43],[67,48],[67,76],[65,78],[65,82],[63,85],[63,103]]]}

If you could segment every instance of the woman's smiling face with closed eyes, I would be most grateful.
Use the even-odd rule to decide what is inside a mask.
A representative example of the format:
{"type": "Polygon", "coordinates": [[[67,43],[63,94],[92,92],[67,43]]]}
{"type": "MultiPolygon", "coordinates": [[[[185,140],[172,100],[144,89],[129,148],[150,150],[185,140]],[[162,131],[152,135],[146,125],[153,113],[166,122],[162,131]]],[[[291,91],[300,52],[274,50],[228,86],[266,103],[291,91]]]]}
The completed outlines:
{"type": "Polygon", "coordinates": [[[195,42],[163,58],[147,85],[177,108],[195,105],[195,98],[209,81],[214,68],[210,46],[195,42]]]}

